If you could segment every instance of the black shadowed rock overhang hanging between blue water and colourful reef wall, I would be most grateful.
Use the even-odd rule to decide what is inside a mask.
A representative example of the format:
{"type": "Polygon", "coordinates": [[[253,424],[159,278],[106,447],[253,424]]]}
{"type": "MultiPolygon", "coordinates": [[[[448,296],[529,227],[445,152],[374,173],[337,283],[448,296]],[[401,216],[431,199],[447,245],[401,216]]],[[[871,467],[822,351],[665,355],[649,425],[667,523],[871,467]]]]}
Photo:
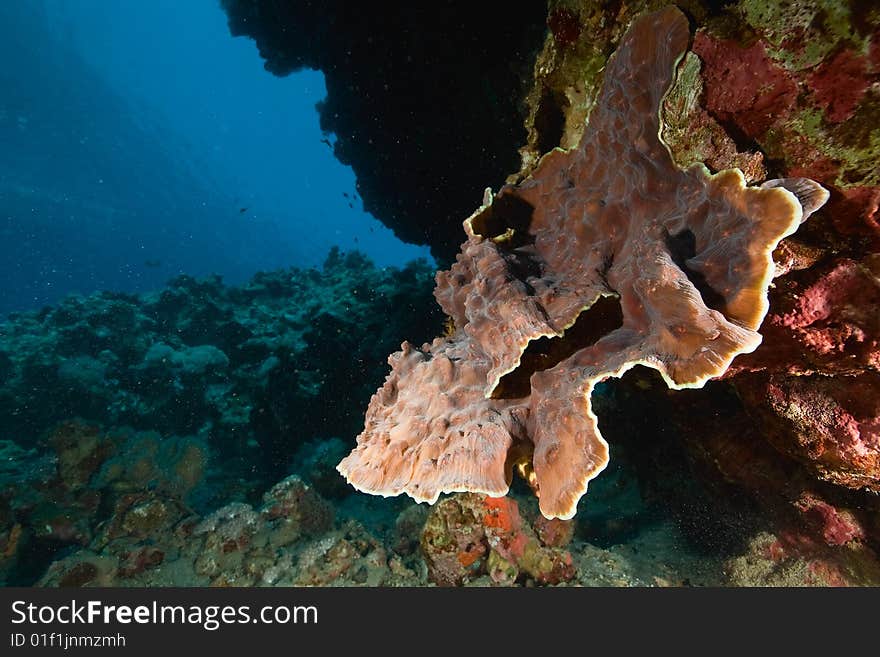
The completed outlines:
{"type": "Polygon", "coordinates": [[[232,34],[253,38],[270,72],[324,72],[321,128],[337,136],[336,155],[354,169],[366,210],[451,260],[460,218],[487,183],[519,168],[520,99],[545,3],[515,11],[466,0],[222,5],[232,34]]]}

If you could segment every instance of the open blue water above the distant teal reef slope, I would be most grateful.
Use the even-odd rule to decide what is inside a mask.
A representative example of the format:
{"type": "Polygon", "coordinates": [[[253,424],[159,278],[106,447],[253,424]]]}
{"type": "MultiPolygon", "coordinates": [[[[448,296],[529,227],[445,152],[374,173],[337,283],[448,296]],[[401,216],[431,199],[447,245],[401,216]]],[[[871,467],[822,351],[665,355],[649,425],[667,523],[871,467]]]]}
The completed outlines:
{"type": "Polygon", "coordinates": [[[363,212],[315,109],[216,0],[0,3],[0,316],[179,273],[429,257],[363,212]]]}

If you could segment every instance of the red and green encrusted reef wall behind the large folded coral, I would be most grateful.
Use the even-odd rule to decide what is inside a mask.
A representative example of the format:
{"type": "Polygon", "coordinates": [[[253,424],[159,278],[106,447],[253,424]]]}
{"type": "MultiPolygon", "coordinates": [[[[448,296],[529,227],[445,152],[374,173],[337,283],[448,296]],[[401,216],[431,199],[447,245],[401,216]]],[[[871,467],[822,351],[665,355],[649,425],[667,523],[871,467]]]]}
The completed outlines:
{"type": "MultiPolygon", "coordinates": [[[[623,30],[664,4],[549,3],[512,181],[578,142],[623,30]]],[[[675,4],[693,32],[661,113],[676,162],[738,167],[749,182],[807,176],[830,198],[773,254],[761,345],[733,361],[726,383],[662,396],[705,476],[789,518],[783,543],[876,546],[880,11],[840,0],[675,4]]]]}

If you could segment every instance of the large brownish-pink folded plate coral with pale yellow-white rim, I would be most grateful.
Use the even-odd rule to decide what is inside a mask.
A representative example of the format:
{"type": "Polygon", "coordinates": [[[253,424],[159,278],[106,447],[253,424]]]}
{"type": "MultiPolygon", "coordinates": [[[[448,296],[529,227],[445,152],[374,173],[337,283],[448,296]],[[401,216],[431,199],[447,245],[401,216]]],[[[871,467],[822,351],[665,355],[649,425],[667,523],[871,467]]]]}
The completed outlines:
{"type": "Polygon", "coordinates": [[[672,7],[636,19],[580,144],[465,221],[434,292],[454,330],[390,357],[338,466],[355,488],[500,496],[518,468],[545,516],[571,518],[608,463],[598,382],[643,365],[696,388],[758,346],[773,249],[828,193],[675,165],[660,104],[689,36],[672,7]]]}

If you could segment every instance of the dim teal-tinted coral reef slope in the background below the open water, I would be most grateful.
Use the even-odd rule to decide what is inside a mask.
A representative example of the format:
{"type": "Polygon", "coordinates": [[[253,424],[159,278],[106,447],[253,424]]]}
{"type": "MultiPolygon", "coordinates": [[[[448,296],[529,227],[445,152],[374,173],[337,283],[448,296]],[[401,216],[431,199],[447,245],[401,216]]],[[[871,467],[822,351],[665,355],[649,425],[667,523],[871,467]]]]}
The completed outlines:
{"type": "Polygon", "coordinates": [[[332,451],[360,425],[400,327],[437,330],[432,275],[424,261],[380,270],[334,250],[320,270],[240,287],[179,276],[149,295],[10,315],[0,515],[18,547],[7,557],[26,550],[33,567],[90,541],[129,493],[173,493],[196,509],[256,499],[305,443],[332,451]]]}

